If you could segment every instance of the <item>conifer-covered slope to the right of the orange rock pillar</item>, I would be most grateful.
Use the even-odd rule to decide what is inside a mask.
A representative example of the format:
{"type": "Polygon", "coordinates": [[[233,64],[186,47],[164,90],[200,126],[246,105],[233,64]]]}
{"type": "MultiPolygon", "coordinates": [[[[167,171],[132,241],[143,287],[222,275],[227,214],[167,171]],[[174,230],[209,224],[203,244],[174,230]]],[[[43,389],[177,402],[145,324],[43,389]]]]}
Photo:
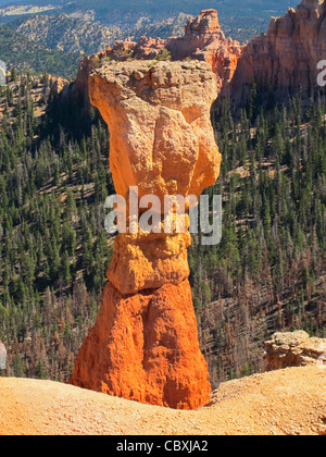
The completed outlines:
{"type": "Polygon", "coordinates": [[[325,112],[325,100],[305,113],[298,99],[264,110],[253,83],[239,116],[227,100],[212,113],[223,161],[209,194],[223,195],[223,238],[208,248],[193,236],[189,263],[216,383],[261,369],[266,328],[324,334],[325,112]]]}

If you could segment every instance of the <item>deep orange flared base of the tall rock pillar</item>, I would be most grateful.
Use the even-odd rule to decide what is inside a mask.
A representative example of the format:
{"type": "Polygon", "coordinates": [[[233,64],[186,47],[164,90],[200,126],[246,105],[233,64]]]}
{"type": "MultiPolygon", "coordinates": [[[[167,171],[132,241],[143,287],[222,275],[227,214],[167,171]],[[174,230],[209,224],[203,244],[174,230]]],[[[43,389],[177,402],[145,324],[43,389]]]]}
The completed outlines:
{"type": "Polygon", "coordinates": [[[175,409],[205,405],[211,385],[189,282],[133,296],[109,283],[70,382],[175,409]]]}

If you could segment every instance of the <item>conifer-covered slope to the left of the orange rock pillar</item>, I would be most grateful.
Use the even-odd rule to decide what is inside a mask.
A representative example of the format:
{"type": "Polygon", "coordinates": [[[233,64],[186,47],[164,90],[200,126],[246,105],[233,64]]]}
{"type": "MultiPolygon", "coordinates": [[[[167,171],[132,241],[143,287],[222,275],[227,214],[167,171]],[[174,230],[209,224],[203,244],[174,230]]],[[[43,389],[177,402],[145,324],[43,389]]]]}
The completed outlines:
{"type": "Polygon", "coordinates": [[[12,73],[0,97],[0,341],[11,348],[9,374],[64,381],[105,284],[113,186],[109,134],[96,118],[80,136],[64,124],[65,106],[49,100],[57,128],[35,116],[47,84],[47,74],[12,73]]]}

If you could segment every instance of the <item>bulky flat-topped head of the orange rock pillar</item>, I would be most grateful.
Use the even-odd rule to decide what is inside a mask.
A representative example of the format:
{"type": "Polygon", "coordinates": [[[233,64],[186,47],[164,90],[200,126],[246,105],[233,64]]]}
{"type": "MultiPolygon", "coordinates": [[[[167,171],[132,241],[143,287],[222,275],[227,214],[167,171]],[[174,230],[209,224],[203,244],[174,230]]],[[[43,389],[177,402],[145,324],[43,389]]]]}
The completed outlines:
{"type": "Polygon", "coordinates": [[[90,77],[89,91],[111,132],[117,194],[138,186],[139,198],[199,196],[216,181],[221,155],[210,108],[217,90],[205,63],[109,62],[90,77]]]}

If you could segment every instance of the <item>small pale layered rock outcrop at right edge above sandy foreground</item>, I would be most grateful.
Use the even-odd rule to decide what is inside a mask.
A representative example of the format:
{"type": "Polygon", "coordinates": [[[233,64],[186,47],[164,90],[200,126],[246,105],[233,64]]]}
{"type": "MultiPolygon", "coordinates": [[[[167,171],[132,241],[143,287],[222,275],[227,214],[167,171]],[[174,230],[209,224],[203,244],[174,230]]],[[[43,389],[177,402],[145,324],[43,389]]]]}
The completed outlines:
{"type": "Polygon", "coordinates": [[[326,368],[326,339],[303,331],[275,333],[265,343],[265,359],[268,371],[316,363],[326,368]]]}

